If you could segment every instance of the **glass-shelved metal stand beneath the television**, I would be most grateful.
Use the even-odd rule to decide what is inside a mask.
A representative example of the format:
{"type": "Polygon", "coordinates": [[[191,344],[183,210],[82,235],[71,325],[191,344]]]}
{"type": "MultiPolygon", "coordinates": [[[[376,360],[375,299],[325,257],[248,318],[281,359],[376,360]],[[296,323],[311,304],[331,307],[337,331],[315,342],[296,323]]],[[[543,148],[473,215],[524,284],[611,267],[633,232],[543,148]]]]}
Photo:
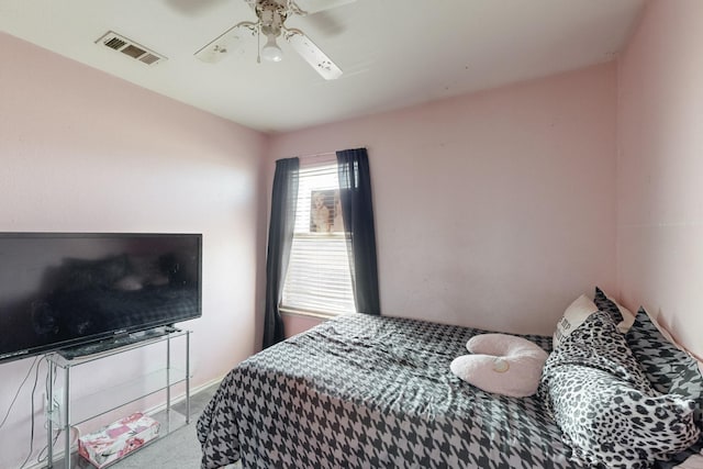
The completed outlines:
{"type": "MultiPolygon", "coordinates": [[[[181,343],[181,345],[183,345],[181,343]]],[[[153,353],[153,350],[148,350],[153,353]]],[[[157,356],[157,353],[154,353],[157,356]]],[[[71,428],[81,423],[88,422],[120,407],[137,402],[157,392],[166,392],[165,411],[157,415],[152,415],[159,421],[159,437],[167,435],[176,428],[190,423],[190,331],[180,331],[175,327],[159,327],[140,334],[124,334],[119,337],[111,337],[107,340],[80,345],[77,347],[58,350],[47,356],[48,359],[48,392],[52,397],[46,405],[46,434],[47,434],[47,468],[54,467],[54,431],[60,429],[64,438],[64,460],[62,467],[90,468],[88,461],[82,459],[78,453],[71,455],[71,428]],[[174,368],[171,365],[171,348],[175,340],[185,340],[185,369],[174,368]],[[159,346],[160,344],[160,346],[159,346]],[[165,348],[165,366],[148,373],[142,373],[127,381],[113,383],[100,391],[88,395],[71,397],[71,372],[74,369],[87,364],[94,362],[119,354],[153,347],[154,349],[165,348]],[[54,381],[63,375],[63,388],[54,381]],[[176,384],[186,386],[186,412],[179,414],[172,409],[171,388],[176,384]],[[109,399],[105,399],[109,395],[109,399]],[[114,395],[119,402],[109,402],[114,395]],[[179,425],[172,425],[178,420],[179,425]],[[174,426],[174,427],[171,427],[174,426]]],[[[127,357],[124,358],[129,359],[127,357]]],[[[110,360],[108,360],[109,362],[110,360]]],[[[150,360],[149,360],[150,361],[150,360]]],[[[96,364],[100,366],[100,364],[96,364]]],[[[78,380],[86,381],[81,375],[89,373],[90,367],[85,372],[78,372],[78,380]]],[[[76,379],[76,378],[74,378],[76,379]]],[[[88,380],[90,375],[88,375],[88,380]]],[[[58,381],[60,383],[60,380],[58,381]]],[[[132,413],[131,411],[130,413],[132,413]]],[[[102,426],[102,425],[100,425],[102,426]]]]}

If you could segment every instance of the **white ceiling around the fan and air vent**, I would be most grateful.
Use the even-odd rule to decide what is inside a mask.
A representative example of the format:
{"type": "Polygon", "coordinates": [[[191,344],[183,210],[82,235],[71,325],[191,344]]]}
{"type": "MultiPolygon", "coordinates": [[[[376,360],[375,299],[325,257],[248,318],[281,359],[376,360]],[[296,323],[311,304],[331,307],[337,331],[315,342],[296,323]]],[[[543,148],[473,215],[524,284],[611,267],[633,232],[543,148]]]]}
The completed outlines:
{"type": "Polygon", "coordinates": [[[333,81],[283,41],[278,64],[257,64],[256,38],[217,64],[196,58],[235,23],[256,20],[244,0],[0,0],[0,31],[248,127],[286,132],[611,60],[645,1],[356,0],[290,18],[287,26],[342,68],[333,81]],[[147,66],[97,45],[108,31],[168,59],[147,66]]]}

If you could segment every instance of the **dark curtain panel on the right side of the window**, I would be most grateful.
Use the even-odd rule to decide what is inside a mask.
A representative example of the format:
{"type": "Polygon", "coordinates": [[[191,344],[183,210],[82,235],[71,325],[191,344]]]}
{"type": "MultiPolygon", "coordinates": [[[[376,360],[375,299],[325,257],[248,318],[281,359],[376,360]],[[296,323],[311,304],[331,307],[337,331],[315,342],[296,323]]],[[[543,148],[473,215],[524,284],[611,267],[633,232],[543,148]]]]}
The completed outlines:
{"type": "Polygon", "coordinates": [[[356,308],[359,313],[380,315],[371,177],[366,148],[337,152],[337,167],[356,308]]]}

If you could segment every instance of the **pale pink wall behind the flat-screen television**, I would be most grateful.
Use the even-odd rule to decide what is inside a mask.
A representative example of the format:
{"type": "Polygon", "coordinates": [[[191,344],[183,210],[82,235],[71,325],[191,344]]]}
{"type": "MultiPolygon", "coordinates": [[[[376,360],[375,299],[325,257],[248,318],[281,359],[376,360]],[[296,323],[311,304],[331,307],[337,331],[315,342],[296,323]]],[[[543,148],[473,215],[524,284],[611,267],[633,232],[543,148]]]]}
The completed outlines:
{"type": "MultiPolygon", "coordinates": [[[[250,355],[267,137],[5,34],[0,63],[0,231],[202,233],[203,317],[183,324],[193,386],[250,355]]],[[[0,365],[2,415],[30,365],[0,365]]],[[[92,378],[104,384],[123,367],[92,378]]],[[[46,442],[43,372],[35,451],[46,442]]],[[[29,451],[32,380],[1,429],[2,468],[29,451]]],[[[78,395],[91,386],[76,384],[78,395]]]]}

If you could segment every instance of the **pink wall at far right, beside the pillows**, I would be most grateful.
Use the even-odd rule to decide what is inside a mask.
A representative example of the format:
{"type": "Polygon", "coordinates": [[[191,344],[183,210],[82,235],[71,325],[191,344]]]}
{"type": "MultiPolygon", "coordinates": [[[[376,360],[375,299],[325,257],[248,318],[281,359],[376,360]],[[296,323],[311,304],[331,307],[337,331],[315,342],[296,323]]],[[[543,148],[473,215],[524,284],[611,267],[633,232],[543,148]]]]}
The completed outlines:
{"type": "Polygon", "coordinates": [[[703,356],[703,2],[649,3],[620,63],[623,301],[703,356]]]}

